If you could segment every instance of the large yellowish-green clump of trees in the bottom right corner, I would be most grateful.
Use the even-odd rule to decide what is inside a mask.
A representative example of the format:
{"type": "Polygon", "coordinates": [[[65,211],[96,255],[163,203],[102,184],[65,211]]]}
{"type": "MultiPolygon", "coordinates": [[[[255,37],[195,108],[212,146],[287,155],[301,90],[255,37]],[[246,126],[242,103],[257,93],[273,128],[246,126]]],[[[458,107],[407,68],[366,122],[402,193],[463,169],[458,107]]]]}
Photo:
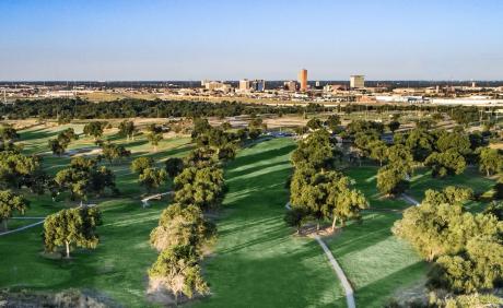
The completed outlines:
{"type": "Polygon", "coordinates": [[[395,235],[434,262],[429,273],[432,288],[471,294],[503,282],[503,204],[472,214],[463,206],[471,196],[471,190],[455,187],[428,190],[422,203],[406,210],[393,227],[395,235]]]}

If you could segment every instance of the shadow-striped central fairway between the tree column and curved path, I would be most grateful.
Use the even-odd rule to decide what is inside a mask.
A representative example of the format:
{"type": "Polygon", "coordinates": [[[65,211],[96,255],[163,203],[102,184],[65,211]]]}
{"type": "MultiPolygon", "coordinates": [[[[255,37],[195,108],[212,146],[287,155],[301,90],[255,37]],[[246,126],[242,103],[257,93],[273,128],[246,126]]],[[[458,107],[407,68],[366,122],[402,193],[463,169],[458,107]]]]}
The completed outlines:
{"type": "Polygon", "coordinates": [[[277,139],[239,153],[226,167],[229,192],[204,275],[212,295],[194,307],[346,307],[334,270],[311,238],[282,221],[294,143],[277,139]]]}

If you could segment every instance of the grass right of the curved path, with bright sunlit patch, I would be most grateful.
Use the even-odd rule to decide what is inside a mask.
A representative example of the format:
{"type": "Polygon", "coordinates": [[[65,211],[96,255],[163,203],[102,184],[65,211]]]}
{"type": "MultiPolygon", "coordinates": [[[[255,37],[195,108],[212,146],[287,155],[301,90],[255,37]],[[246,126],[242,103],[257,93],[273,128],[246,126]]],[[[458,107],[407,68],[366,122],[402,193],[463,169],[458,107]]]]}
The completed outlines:
{"type": "Polygon", "coordinates": [[[400,288],[424,280],[428,265],[412,248],[391,234],[401,199],[383,199],[376,189],[377,166],[353,167],[346,174],[367,198],[371,210],[362,223],[350,223],[326,242],[354,288],[358,307],[383,307],[400,288]]]}

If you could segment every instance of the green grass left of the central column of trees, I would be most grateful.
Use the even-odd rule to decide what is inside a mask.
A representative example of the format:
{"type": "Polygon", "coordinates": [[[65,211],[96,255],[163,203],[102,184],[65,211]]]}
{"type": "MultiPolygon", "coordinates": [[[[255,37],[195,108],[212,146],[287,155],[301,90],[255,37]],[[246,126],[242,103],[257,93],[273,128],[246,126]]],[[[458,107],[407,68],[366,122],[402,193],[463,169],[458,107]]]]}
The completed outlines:
{"type": "MultiPolygon", "coordinates": [[[[66,167],[70,162],[67,156],[52,156],[48,153],[47,140],[54,138],[59,130],[69,126],[51,129],[30,129],[21,132],[21,142],[25,144],[24,153],[42,154],[44,166],[51,174],[66,167]]],[[[79,132],[79,126],[73,126],[79,132]]],[[[103,226],[98,227],[101,242],[95,250],[77,249],[71,260],[50,260],[40,256],[43,251],[43,226],[22,230],[17,234],[0,237],[1,262],[0,288],[21,287],[37,291],[62,291],[74,287],[93,289],[110,297],[127,307],[154,306],[145,301],[147,270],[155,261],[156,251],[150,248],[149,235],[156,226],[160,213],[166,206],[166,200],[152,202],[148,209],[141,208],[141,196],[144,189],[137,182],[137,175],[129,169],[131,159],[139,156],[153,157],[159,166],[171,156],[183,156],[190,149],[188,139],[163,140],[159,151],[153,153],[151,146],[140,135],[136,141],[127,143],[115,134],[104,137],[114,142],[122,143],[132,155],[121,164],[109,166],[116,174],[119,197],[91,198],[89,202],[97,203],[103,211],[103,226]]],[[[91,138],[81,137],[70,149],[93,145],[91,138]]],[[[160,188],[167,191],[169,183],[160,188]]],[[[31,201],[27,216],[45,216],[61,209],[74,206],[78,202],[65,196],[52,202],[49,196],[33,196],[25,192],[31,201]]],[[[9,222],[9,227],[36,221],[9,222]]]]}

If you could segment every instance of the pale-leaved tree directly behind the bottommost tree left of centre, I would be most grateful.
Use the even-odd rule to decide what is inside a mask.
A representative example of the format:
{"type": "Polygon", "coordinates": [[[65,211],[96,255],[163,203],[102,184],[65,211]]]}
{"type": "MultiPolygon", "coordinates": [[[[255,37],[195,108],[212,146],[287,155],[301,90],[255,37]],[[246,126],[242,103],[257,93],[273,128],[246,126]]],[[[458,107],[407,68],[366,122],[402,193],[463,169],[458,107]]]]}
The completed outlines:
{"type": "Polygon", "coordinates": [[[196,205],[174,203],[161,214],[159,226],[150,234],[150,244],[162,251],[172,246],[191,246],[199,253],[202,247],[215,236],[217,227],[207,221],[196,205]]]}

